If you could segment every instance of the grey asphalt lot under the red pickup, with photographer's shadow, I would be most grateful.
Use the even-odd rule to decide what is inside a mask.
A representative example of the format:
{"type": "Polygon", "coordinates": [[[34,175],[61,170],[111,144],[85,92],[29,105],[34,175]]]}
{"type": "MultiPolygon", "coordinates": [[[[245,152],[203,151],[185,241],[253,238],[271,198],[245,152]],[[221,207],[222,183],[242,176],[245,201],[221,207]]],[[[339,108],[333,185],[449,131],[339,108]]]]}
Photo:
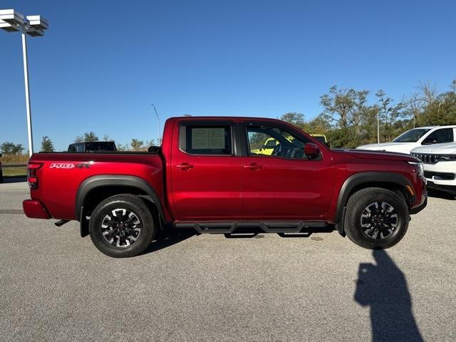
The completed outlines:
{"type": "Polygon", "coordinates": [[[386,251],[170,232],[131,259],[77,222],[28,219],[26,198],[0,184],[1,341],[456,341],[454,197],[430,197],[386,251]]]}

